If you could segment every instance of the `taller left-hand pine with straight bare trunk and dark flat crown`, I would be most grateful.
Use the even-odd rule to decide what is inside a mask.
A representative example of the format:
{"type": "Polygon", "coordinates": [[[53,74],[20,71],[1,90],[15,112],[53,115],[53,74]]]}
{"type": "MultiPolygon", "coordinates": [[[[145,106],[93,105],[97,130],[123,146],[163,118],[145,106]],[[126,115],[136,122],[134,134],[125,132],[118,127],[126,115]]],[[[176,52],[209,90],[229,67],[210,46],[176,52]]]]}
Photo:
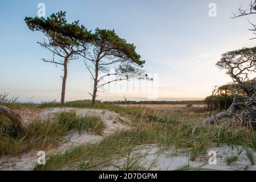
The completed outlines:
{"type": "Polygon", "coordinates": [[[40,46],[52,52],[52,59],[42,59],[47,63],[54,63],[63,67],[61,104],[65,102],[65,90],[67,81],[67,67],[71,60],[78,59],[79,54],[86,51],[92,41],[92,35],[87,28],[79,24],[79,20],[68,23],[66,12],[60,11],[51,14],[47,18],[26,17],[25,22],[32,31],[40,31],[46,36],[46,40],[38,42],[40,46]],[[56,56],[60,61],[56,61],[56,56]]]}

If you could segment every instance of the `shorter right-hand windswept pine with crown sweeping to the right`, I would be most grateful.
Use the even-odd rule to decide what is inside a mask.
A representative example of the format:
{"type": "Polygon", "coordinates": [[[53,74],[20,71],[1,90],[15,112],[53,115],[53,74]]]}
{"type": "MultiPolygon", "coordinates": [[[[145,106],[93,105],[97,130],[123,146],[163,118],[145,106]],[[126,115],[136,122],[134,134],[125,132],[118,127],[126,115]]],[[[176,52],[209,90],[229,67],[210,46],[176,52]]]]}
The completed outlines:
{"type": "Polygon", "coordinates": [[[97,91],[101,86],[131,78],[149,79],[142,69],[145,61],[141,60],[135,48],[133,44],[119,38],[114,30],[95,30],[92,51],[89,55],[84,55],[84,63],[94,80],[94,89],[92,94],[90,93],[92,104],[95,103],[97,91]],[[114,68],[115,72],[109,73],[111,68],[114,68]],[[105,75],[99,77],[99,72],[105,75]],[[106,81],[105,78],[109,79],[106,81]]]}

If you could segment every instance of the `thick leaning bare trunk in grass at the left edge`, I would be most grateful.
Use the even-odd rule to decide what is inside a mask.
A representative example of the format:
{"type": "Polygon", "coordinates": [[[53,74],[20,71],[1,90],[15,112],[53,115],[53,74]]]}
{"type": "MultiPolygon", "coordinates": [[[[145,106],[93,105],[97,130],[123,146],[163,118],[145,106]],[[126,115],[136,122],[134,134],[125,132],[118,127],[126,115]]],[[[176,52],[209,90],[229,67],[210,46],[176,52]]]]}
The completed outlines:
{"type": "Polygon", "coordinates": [[[25,127],[25,123],[22,121],[21,116],[15,113],[14,110],[11,110],[8,107],[0,105],[0,114],[5,115],[5,117],[11,119],[11,121],[13,121],[16,127],[18,128],[25,127]]]}

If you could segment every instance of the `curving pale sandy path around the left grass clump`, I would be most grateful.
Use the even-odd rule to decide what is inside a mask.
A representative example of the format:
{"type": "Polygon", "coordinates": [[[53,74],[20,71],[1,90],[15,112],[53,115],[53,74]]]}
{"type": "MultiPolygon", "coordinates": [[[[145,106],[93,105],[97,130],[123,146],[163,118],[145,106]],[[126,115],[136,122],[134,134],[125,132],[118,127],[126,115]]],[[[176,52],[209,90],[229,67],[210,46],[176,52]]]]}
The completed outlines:
{"type": "MultiPolygon", "coordinates": [[[[50,150],[45,151],[46,155],[53,154],[56,152],[64,152],[68,148],[76,147],[81,144],[86,143],[96,143],[99,142],[111,133],[119,129],[128,129],[129,126],[124,123],[119,122],[119,118],[125,121],[125,123],[129,123],[129,119],[120,116],[119,114],[107,111],[107,110],[97,110],[97,109],[76,109],[76,108],[50,108],[43,109],[40,111],[36,110],[22,110],[20,114],[25,122],[32,122],[36,119],[40,118],[41,120],[46,119],[55,119],[56,114],[62,111],[75,111],[77,115],[95,115],[101,117],[105,125],[107,126],[103,136],[88,134],[87,132],[83,132],[79,134],[78,131],[70,131],[68,135],[65,137],[67,142],[61,144],[58,147],[51,148],[50,150]]],[[[38,151],[31,151],[26,154],[22,154],[17,157],[9,158],[8,156],[3,156],[0,158],[0,170],[32,170],[34,165],[36,164],[39,156],[37,155],[38,151]]]]}

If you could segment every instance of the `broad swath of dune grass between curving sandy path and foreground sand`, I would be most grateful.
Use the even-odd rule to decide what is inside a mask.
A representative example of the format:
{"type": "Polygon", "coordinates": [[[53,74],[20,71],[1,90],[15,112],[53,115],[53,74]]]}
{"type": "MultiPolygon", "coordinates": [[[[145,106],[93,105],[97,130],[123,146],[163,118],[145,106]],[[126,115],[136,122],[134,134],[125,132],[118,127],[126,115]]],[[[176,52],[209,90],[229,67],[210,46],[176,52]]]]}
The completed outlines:
{"type": "MultiPolygon", "coordinates": [[[[255,135],[254,132],[246,128],[204,126],[201,122],[195,121],[179,122],[178,120],[181,118],[170,122],[173,120],[162,119],[165,117],[161,114],[150,117],[147,113],[141,115],[143,115],[141,118],[135,118],[133,121],[135,125],[133,129],[117,131],[99,143],[79,146],[65,154],[48,156],[46,165],[36,166],[35,170],[102,169],[112,166],[113,159],[129,156],[129,151],[133,150],[135,146],[144,144],[156,144],[157,147],[163,149],[174,146],[189,152],[190,160],[195,160],[198,156],[204,155],[214,143],[250,146],[251,139],[255,135]],[[216,138],[216,136],[218,137],[216,138]]],[[[170,114],[170,118],[172,118],[172,114],[170,114]]],[[[138,158],[132,156],[127,158],[129,159],[127,163],[119,169],[141,167],[137,163],[138,158]]]]}

